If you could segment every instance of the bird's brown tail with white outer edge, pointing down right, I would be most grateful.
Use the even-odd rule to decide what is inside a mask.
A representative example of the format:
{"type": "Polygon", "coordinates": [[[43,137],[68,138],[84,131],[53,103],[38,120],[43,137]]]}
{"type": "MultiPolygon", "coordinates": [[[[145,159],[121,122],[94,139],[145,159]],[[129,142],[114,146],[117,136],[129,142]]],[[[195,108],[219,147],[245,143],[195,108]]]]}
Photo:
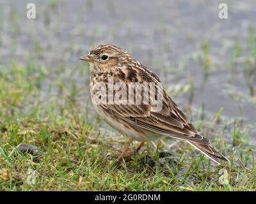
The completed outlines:
{"type": "Polygon", "coordinates": [[[220,164],[220,159],[229,162],[229,160],[225,156],[217,152],[214,148],[212,148],[209,145],[202,145],[195,142],[189,143],[193,145],[196,149],[200,150],[200,152],[205,154],[205,156],[209,157],[210,159],[212,159],[212,161],[215,161],[218,164],[220,164]]]}

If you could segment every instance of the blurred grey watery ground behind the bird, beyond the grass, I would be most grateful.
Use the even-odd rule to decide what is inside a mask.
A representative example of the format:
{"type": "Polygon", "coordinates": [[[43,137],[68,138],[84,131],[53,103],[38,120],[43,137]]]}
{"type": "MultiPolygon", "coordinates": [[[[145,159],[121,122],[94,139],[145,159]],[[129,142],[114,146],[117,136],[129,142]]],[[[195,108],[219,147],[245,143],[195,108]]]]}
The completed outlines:
{"type": "MultiPolygon", "coordinates": [[[[47,93],[49,84],[60,76],[70,84],[70,75],[84,66],[80,55],[111,43],[156,72],[171,96],[173,87],[190,87],[190,94],[173,96],[181,107],[196,111],[204,105],[206,113],[223,108],[226,119],[252,127],[255,142],[256,1],[227,1],[228,19],[218,17],[222,1],[33,2],[36,19],[29,20],[31,1],[0,1],[0,63],[42,64],[49,73],[42,82],[45,101],[54,95],[47,93]]],[[[88,93],[88,76],[73,77],[88,93]]]]}

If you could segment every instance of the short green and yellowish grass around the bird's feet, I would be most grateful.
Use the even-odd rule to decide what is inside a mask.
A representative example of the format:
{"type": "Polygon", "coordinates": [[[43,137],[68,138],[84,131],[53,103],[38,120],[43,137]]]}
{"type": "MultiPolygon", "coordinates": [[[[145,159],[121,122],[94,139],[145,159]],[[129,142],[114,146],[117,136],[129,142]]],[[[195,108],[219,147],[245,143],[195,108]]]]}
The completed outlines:
{"type": "Polygon", "coordinates": [[[86,72],[84,67],[76,68],[68,80],[63,74],[49,82],[49,72],[36,62],[13,63],[8,69],[1,66],[2,191],[255,190],[250,129],[241,121],[223,119],[221,109],[204,117],[204,111],[198,110],[195,125],[230,158],[230,164],[216,165],[187,143],[166,139],[157,150],[148,143],[140,154],[116,163],[127,138],[104,126],[88,108],[88,99],[83,98],[86,81],[74,82],[86,72]],[[223,140],[224,134],[229,142],[223,140]],[[42,156],[20,152],[20,143],[39,147],[42,156]]]}

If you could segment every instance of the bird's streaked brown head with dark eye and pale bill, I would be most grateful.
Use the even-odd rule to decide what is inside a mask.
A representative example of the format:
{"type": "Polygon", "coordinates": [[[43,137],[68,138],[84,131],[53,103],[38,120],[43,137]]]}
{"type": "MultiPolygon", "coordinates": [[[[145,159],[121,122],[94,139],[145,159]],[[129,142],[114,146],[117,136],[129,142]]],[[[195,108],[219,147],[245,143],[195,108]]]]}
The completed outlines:
{"type": "Polygon", "coordinates": [[[89,62],[90,69],[95,69],[92,71],[109,71],[125,61],[132,60],[132,57],[128,52],[114,45],[100,45],[79,59],[89,62]]]}

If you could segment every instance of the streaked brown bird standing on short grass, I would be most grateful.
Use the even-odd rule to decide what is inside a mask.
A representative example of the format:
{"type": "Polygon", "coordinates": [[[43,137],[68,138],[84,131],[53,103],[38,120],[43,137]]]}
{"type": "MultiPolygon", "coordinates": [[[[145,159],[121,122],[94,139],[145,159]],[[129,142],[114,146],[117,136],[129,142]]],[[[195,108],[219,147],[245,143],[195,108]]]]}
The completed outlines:
{"type": "MultiPolygon", "coordinates": [[[[129,138],[129,142],[118,156],[119,162],[123,161],[132,141],[141,142],[136,151],[138,152],[145,142],[155,142],[166,136],[185,140],[215,163],[220,164],[221,160],[229,162],[227,157],[211,147],[209,139],[195,129],[182,110],[168,96],[159,77],[134,59],[129,52],[115,45],[104,44],[93,48],[79,59],[89,63],[90,93],[95,110],[111,127],[129,138]],[[148,101],[155,99],[155,103],[143,103],[142,99],[138,99],[140,103],[127,103],[123,100],[123,96],[122,99],[120,96],[116,97],[115,94],[118,94],[120,87],[113,91],[109,81],[113,82],[114,87],[116,84],[122,84],[126,88],[130,84],[157,84],[153,89],[161,90],[159,97],[161,103],[160,100],[156,103],[156,95],[144,96],[141,92],[139,92],[141,98],[148,101]],[[115,96],[115,100],[110,99],[110,95],[112,98],[115,96]]],[[[124,99],[129,96],[134,100],[138,98],[134,96],[134,91],[129,92],[125,89],[122,93],[127,94],[124,99]]]]}

